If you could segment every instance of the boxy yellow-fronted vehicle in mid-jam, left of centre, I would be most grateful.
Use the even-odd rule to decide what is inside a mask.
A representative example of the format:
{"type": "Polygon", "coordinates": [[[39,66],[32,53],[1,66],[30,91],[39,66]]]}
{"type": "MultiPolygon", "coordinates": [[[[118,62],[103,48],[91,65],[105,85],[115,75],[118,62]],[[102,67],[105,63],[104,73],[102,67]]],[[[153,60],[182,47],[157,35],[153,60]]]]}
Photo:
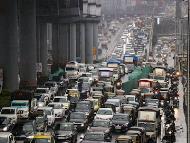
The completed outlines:
{"type": "Polygon", "coordinates": [[[80,99],[80,92],[78,89],[67,89],[68,99],[71,103],[76,103],[80,99]]]}

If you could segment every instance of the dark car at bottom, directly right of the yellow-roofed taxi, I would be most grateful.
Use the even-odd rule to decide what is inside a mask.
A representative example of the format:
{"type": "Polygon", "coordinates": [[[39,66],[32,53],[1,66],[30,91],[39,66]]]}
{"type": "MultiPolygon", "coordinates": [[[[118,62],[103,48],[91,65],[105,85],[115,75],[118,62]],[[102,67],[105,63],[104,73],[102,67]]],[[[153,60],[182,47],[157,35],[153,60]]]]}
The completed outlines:
{"type": "Polygon", "coordinates": [[[74,123],[57,123],[54,126],[54,134],[56,141],[76,143],[77,131],[74,123]]]}

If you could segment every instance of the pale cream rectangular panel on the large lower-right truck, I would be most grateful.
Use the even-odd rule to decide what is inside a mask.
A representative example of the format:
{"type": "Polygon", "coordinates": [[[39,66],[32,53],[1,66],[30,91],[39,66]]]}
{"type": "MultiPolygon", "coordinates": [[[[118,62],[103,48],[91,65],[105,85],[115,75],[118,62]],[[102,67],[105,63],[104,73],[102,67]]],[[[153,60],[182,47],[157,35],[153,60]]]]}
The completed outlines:
{"type": "Polygon", "coordinates": [[[156,120],[156,112],[139,111],[138,120],[155,121],[156,120]]]}

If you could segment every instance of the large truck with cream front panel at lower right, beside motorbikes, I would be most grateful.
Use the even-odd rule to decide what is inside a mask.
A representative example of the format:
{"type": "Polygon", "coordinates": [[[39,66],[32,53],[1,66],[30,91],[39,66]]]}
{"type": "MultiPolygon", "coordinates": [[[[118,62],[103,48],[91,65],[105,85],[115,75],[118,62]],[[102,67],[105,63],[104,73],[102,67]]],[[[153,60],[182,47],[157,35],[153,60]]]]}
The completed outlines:
{"type": "Polygon", "coordinates": [[[137,126],[146,130],[148,138],[157,141],[157,136],[161,131],[161,117],[159,108],[140,107],[138,109],[137,126]]]}

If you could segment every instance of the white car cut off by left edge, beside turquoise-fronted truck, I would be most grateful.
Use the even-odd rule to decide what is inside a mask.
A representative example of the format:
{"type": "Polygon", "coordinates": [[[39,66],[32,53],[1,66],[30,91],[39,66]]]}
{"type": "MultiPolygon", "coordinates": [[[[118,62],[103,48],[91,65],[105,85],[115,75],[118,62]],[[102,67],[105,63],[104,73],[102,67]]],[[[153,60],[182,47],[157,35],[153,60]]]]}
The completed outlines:
{"type": "Polygon", "coordinates": [[[3,107],[0,112],[0,117],[10,118],[13,122],[17,122],[18,109],[15,107],[3,107]]]}

